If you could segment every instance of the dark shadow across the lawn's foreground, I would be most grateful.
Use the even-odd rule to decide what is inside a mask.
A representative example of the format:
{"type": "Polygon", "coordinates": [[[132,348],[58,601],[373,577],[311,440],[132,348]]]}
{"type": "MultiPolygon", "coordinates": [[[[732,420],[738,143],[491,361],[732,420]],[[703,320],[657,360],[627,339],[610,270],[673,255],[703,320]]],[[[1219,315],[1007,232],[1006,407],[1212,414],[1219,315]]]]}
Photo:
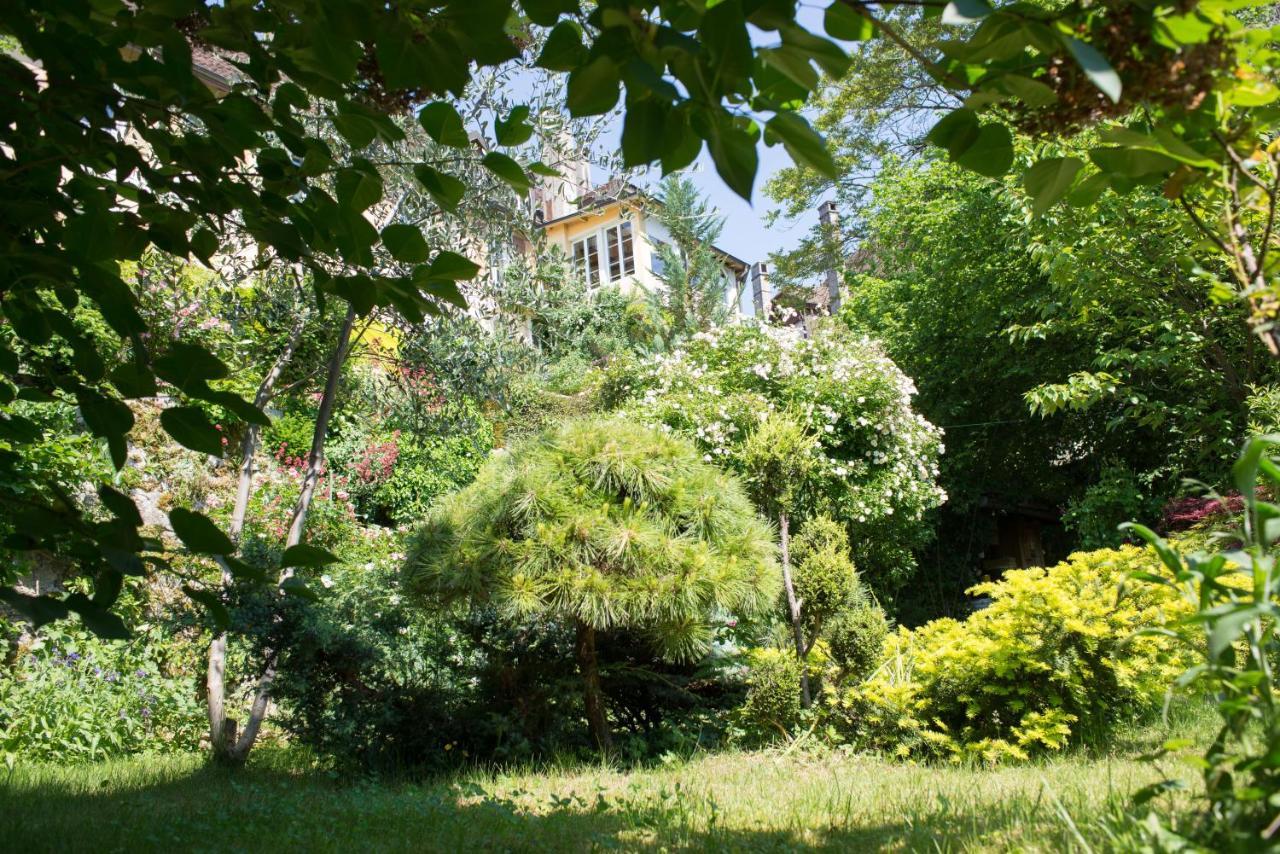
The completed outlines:
{"type": "MultiPolygon", "coordinates": [[[[88,773],[88,772],[87,772],[88,773]]],[[[0,776],[3,781],[3,776],[0,776]]],[[[721,805],[722,807],[722,805],[721,805]]],[[[0,785],[10,851],[861,851],[946,850],[1011,830],[1019,817],[940,812],[856,827],[740,830],[689,793],[570,796],[535,804],[457,785],[349,784],[206,767],[125,789],[0,785]]]]}

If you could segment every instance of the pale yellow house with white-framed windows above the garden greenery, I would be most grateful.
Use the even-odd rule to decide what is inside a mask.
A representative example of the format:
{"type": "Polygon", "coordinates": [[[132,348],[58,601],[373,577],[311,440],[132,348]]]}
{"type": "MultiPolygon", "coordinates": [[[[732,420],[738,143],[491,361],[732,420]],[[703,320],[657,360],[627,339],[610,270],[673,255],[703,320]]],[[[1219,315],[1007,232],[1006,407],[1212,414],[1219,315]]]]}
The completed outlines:
{"type": "MultiPolygon", "coordinates": [[[[625,181],[591,184],[590,165],[566,164],[530,193],[534,224],[545,250],[559,250],[589,288],[613,286],[623,293],[657,293],[663,245],[672,242],[662,222],[662,201],[625,181]]],[[[719,247],[724,302],[733,318],[768,312],[771,292],[763,264],[748,264],[719,247]]]]}

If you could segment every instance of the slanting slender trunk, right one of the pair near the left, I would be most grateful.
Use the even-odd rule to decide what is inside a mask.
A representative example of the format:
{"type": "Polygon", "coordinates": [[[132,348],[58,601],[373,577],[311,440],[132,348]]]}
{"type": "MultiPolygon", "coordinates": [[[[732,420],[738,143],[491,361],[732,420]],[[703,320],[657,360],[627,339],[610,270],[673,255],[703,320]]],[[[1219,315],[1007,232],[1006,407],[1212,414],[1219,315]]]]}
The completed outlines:
{"type": "MultiPolygon", "coordinates": [[[[347,352],[351,348],[351,332],[355,324],[356,310],[348,307],[347,316],[342,321],[342,329],[338,332],[338,341],[334,344],[333,355],[329,357],[325,388],[320,396],[320,412],[316,415],[315,430],[311,434],[311,452],[307,455],[307,469],[302,476],[302,490],[298,493],[298,501],[293,506],[293,520],[289,522],[289,533],[284,539],[284,548],[301,543],[302,534],[306,531],[311,499],[315,497],[316,483],[320,480],[320,471],[324,466],[324,446],[329,433],[329,419],[333,417],[334,405],[338,398],[338,385],[342,379],[342,365],[347,360],[347,352]]],[[[283,584],[292,575],[293,571],[285,568],[280,574],[279,583],[283,584]]],[[[266,653],[266,665],[257,680],[257,691],[253,697],[248,721],[236,740],[234,748],[227,755],[228,761],[233,764],[243,764],[248,759],[250,750],[253,749],[257,732],[271,703],[271,686],[275,684],[275,666],[278,661],[279,650],[269,649],[266,653]]]]}

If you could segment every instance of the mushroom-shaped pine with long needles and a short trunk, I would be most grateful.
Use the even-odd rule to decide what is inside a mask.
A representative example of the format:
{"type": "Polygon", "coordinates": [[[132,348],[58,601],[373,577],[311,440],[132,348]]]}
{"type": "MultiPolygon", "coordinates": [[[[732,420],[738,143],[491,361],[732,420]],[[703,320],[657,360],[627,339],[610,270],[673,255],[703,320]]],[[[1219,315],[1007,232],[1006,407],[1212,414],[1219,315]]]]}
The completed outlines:
{"type": "Polygon", "coordinates": [[[492,458],[415,534],[407,584],[428,600],[571,624],[591,737],[612,746],[596,632],[644,631],[675,659],[712,622],[776,595],[773,544],[742,487],[676,437],[570,421],[492,458]]]}

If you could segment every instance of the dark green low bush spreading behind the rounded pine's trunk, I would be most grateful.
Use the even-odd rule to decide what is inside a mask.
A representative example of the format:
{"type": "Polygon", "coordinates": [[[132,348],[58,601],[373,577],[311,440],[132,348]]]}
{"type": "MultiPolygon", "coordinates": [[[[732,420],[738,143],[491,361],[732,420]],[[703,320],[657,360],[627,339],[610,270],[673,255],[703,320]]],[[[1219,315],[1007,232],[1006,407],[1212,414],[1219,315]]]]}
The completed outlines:
{"type": "MultiPolygon", "coordinates": [[[[241,629],[278,663],[276,726],[335,766],[374,771],[516,762],[589,748],[573,630],[494,608],[424,611],[402,595],[401,535],[366,529],[315,602],[242,592],[241,629]]],[[[602,690],[628,757],[721,737],[740,699],[710,665],[658,659],[634,634],[602,638],[602,690]]]]}

